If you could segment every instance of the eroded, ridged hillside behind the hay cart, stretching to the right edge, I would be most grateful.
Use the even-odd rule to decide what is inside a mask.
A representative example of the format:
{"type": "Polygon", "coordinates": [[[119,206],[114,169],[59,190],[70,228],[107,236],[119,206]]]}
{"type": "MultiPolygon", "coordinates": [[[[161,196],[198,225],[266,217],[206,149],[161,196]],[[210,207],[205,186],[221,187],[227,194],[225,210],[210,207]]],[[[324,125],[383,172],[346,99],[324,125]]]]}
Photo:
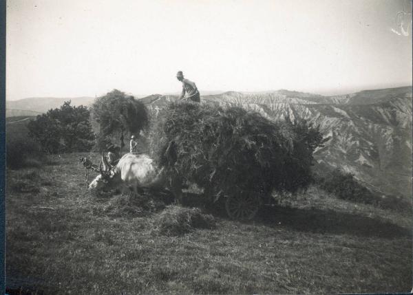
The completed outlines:
{"type": "MultiPolygon", "coordinates": [[[[142,98],[152,116],[162,116],[177,96],[142,98]]],[[[316,171],[342,168],[370,189],[412,195],[412,87],[320,96],[279,90],[260,93],[227,91],[201,96],[202,103],[243,107],[269,120],[304,118],[331,139],[315,151],[316,171]]]]}

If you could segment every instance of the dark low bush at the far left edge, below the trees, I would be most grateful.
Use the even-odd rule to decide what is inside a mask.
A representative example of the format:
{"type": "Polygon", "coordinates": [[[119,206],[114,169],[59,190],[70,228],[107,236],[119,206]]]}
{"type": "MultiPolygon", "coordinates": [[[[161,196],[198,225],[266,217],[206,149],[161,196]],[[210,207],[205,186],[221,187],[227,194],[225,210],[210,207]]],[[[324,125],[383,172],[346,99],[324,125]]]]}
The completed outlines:
{"type": "Polygon", "coordinates": [[[39,166],[45,160],[39,144],[30,138],[7,140],[6,164],[8,168],[19,169],[25,166],[39,166]]]}

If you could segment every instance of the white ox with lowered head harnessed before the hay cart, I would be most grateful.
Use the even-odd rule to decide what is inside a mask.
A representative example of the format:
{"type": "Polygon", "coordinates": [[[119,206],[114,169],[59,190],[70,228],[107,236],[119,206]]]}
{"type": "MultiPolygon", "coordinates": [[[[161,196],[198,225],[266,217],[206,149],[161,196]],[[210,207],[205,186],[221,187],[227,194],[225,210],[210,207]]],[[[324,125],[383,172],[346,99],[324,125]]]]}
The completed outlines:
{"type": "Polygon", "coordinates": [[[116,166],[112,166],[102,155],[99,166],[100,175],[89,184],[89,189],[120,188],[122,192],[129,189],[135,194],[142,188],[168,188],[178,201],[182,197],[182,182],[178,177],[167,177],[153,164],[149,155],[127,153],[120,158],[116,166]]]}

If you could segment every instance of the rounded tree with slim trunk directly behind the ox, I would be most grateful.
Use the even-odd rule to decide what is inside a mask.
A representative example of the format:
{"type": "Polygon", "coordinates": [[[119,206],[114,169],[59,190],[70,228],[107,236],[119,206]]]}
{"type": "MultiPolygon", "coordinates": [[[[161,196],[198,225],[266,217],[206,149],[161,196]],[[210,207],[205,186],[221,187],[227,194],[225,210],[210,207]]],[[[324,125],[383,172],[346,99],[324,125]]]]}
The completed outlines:
{"type": "Polygon", "coordinates": [[[118,138],[123,149],[125,135],[139,133],[149,121],[145,105],[117,89],[95,100],[92,115],[99,124],[97,145],[100,151],[107,148],[110,137],[118,138]]]}

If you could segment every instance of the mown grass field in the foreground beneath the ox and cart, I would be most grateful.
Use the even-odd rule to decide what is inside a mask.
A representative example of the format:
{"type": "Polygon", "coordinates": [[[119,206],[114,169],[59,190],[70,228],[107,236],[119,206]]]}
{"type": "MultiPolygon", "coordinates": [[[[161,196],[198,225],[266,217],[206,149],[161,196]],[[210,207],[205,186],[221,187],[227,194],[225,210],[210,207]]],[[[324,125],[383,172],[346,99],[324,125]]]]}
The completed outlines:
{"type": "Polygon", "coordinates": [[[310,188],[264,208],[250,222],[231,221],[222,210],[203,206],[215,227],[165,235],[157,230],[160,215],[179,208],[158,195],[87,193],[78,155],[50,156],[51,164],[7,171],[9,294],[412,289],[411,214],[310,188]]]}

